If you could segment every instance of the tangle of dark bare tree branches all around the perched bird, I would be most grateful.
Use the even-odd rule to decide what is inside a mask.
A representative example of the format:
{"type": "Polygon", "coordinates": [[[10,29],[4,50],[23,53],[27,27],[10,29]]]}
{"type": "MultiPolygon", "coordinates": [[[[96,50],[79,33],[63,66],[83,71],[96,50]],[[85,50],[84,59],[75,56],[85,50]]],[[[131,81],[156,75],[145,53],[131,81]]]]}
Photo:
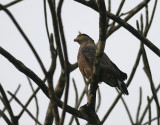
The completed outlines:
{"type": "MultiPolygon", "coordinates": [[[[63,30],[63,24],[61,19],[61,9],[63,5],[63,0],[59,0],[58,5],[56,5],[55,0],[44,0],[44,15],[45,15],[45,26],[46,26],[46,32],[48,36],[48,42],[50,45],[50,54],[51,54],[51,64],[49,70],[47,70],[42,63],[42,60],[40,59],[40,56],[38,55],[37,51],[32,45],[32,42],[29,40],[27,35],[24,33],[23,29],[20,27],[12,13],[7,9],[10,6],[18,4],[18,2],[22,2],[22,0],[15,0],[7,5],[1,5],[0,4],[0,10],[4,11],[11,19],[11,21],[14,23],[18,31],[21,33],[23,38],[25,39],[26,43],[32,50],[33,54],[35,55],[39,66],[42,69],[42,72],[44,73],[43,80],[39,78],[31,69],[29,69],[27,66],[25,66],[21,61],[16,59],[13,55],[11,55],[9,52],[7,52],[5,49],[3,49],[0,46],[0,54],[4,56],[10,63],[12,63],[20,72],[26,75],[28,79],[28,83],[31,86],[31,89],[33,91],[33,94],[30,96],[26,104],[22,104],[21,101],[16,97],[17,92],[20,89],[20,85],[17,87],[17,90],[14,93],[11,93],[8,91],[8,94],[11,96],[10,99],[7,97],[7,93],[4,91],[3,86],[0,84],[0,99],[2,103],[4,104],[4,109],[0,109],[0,117],[5,120],[5,122],[9,125],[18,125],[19,119],[22,117],[22,114],[24,112],[27,112],[28,115],[35,121],[36,124],[42,124],[40,123],[38,116],[39,116],[39,104],[37,99],[37,93],[39,90],[42,90],[43,93],[48,97],[50,103],[48,105],[47,113],[45,116],[45,125],[51,125],[53,124],[53,121],[55,121],[56,125],[63,125],[65,114],[70,113],[72,115],[69,125],[73,123],[73,120],[75,120],[76,124],[79,125],[79,119],[84,119],[87,121],[87,124],[93,124],[93,125],[101,125],[104,124],[104,122],[107,120],[108,116],[116,106],[117,102],[121,99],[126,111],[128,113],[128,117],[130,119],[130,122],[132,125],[141,125],[141,124],[151,124],[152,121],[157,120],[157,125],[160,125],[160,104],[158,100],[157,92],[160,89],[160,84],[158,87],[155,87],[155,84],[153,82],[152,78],[152,72],[151,68],[148,62],[147,53],[145,50],[145,47],[148,47],[151,51],[153,51],[157,56],[160,57],[160,50],[157,48],[153,42],[148,40],[147,34],[149,32],[149,29],[151,27],[155,10],[157,7],[157,0],[155,0],[153,10],[150,11],[151,17],[149,16],[148,12],[148,4],[150,3],[150,0],[143,0],[141,3],[139,3],[137,6],[133,7],[130,11],[127,13],[122,13],[122,8],[124,6],[125,0],[121,0],[121,3],[117,9],[117,12],[115,14],[111,13],[111,0],[108,0],[108,7],[105,6],[104,0],[74,0],[75,2],[81,3],[96,12],[99,13],[99,41],[97,43],[97,51],[96,51],[96,59],[94,62],[94,70],[90,85],[90,91],[88,92],[88,83],[84,79],[85,87],[82,93],[79,96],[79,93],[77,91],[77,86],[75,83],[75,80],[73,79],[73,85],[76,95],[75,100],[75,107],[71,107],[67,105],[68,101],[68,91],[69,91],[69,85],[70,85],[70,73],[73,72],[77,68],[77,63],[71,64],[68,60],[68,53],[67,53],[67,42],[64,35],[63,30]],[[53,34],[49,33],[48,30],[48,23],[47,23],[47,11],[46,6],[49,5],[50,8],[50,14],[52,17],[53,22],[53,34]],[[127,23],[128,20],[134,17],[135,14],[139,13],[142,9],[145,9],[145,14],[141,14],[140,20],[137,20],[137,28],[132,27],[130,24],[127,23]],[[99,110],[100,104],[101,104],[101,93],[98,88],[97,81],[97,74],[99,72],[98,65],[101,60],[101,55],[104,51],[106,39],[112,35],[115,31],[117,31],[119,28],[124,27],[128,32],[132,33],[136,38],[140,40],[140,47],[139,52],[137,54],[137,58],[135,60],[135,64],[132,68],[131,74],[129,76],[129,79],[127,81],[127,86],[130,85],[132,82],[132,79],[135,75],[136,69],[139,65],[140,58],[142,57],[143,63],[144,63],[144,72],[146,73],[148,80],[150,82],[150,88],[152,91],[152,96],[147,97],[148,104],[146,105],[142,115],[140,116],[140,110],[141,109],[141,103],[142,103],[142,88],[140,88],[140,97],[139,97],[139,105],[137,108],[137,114],[136,114],[136,120],[133,120],[133,117],[129,111],[129,108],[122,97],[121,93],[118,93],[116,99],[106,112],[104,114],[103,118],[100,120],[97,116],[97,111],[99,110]],[[56,45],[54,45],[56,44],[56,45]],[[59,77],[59,80],[57,81],[56,87],[54,87],[55,83],[53,83],[53,77],[55,73],[55,69],[57,67],[57,57],[59,58],[59,63],[61,65],[61,75],[59,77]],[[33,83],[37,84],[37,88],[33,88],[33,83]],[[47,83],[47,85],[45,84],[47,83]],[[98,90],[98,91],[97,91],[98,90]],[[61,101],[61,97],[64,94],[64,100],[61,101]],[[96,106],[96,95],[98,94],[98,101],[96,106]],[[87,96],[88,101],[86,102],[86,105],[79,108],[83,98],[87,96]],[[21,107],[22,111],[18,115],[15,115],[12,109],[12,106],[10,102],[12,100],[15,100],[21,107]],[[34,116],[28,109],[27,106],[31,103],[31,101],[35,99],[36,103],[36,116],[34,116]],[[151,117],[151,103],[152,101],[155,101],[156,108],[157,108],[157,117],[152,118],[151,117]],[[59,108],[62,109],[62,113],[60,114],[59,108]],[[79,108],[79,109],[78,109],[79,108]],[[9,116],[5,114],[5,111],[8,111],[9,116]],[[146,116],[147,112],[149,113],[148,121],[143,122],[144,117],[146,116]]],[[[66,124],[66,123],[65,123],[66,124]]]]}

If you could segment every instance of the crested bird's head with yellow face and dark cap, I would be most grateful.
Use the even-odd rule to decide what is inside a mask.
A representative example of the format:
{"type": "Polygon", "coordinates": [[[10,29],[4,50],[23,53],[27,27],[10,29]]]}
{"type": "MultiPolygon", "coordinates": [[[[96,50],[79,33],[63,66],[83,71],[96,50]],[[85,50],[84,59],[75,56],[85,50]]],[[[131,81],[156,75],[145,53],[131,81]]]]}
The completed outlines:
{"type": "Polygon", "coordinates": [[[89,37],[87,34],[79,34],[75,39],[74,42],[78,42],[80,45],[84,42],[91,41],[94,43],[93,39],[89,37]]]}

